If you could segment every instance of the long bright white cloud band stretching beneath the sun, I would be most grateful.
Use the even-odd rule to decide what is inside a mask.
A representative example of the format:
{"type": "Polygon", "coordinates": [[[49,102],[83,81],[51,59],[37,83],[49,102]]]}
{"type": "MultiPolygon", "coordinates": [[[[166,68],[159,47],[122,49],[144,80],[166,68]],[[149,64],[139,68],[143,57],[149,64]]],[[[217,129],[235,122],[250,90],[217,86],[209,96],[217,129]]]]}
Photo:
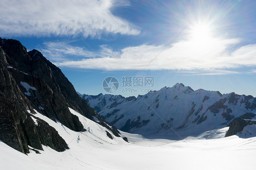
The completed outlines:
{"type": "MultiPolygon", "coordinates": [[[[237,74],[238,71],[224,71],[244,66],[256,66],[256,44],[241,46],[234,49],[240,42],[239,39],[212,39],[210,42],[195,42],[190,40],[179,41],[170,45],[164,50],[150,65],[148,63],[164,48],[164,45],[139,45],[126,47],[115,51],[102,45],[97,54],[85,49],[78,50],[79,59],[68,57],[68,54],[78,47],[67,45],[50,49],[46,46],[46,56],[48,51],[56,51],[61,56],[66,56],[66,60],[52,60],[56,65],[62,67],[99,69],[99,70],[175,70],[192,71],[192,74],[237,74]],[[230,50],[232,49],[232,50],[230,50]],[[70,52],[66,50],[71,50],[70,52]],[[80,51],[80,52],[79,52],[80,51]],[[107,64],[108,65],[107,65],[107,64]],[[197,73],[197,70],[205,70],[204,73],[197,73]],[[194,72],[194,73],[193,73],[194,72]]],[[[78,48],[79,49],[79,48],[78,48]]],[[[50,54],[51,55],[51,54],[50,54]]]]}

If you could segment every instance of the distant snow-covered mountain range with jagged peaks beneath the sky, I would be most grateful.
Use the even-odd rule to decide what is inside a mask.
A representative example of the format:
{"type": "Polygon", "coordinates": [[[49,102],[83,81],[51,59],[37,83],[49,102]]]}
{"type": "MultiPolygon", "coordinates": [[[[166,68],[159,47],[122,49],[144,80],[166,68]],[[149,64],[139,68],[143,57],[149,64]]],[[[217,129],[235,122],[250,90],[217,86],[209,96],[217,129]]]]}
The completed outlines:
{"type": "MultiPolygon", "coordinates": [[[[98,113],[102,118],[118,129],[146,137],[169,135],[173,133],[172,129],[186,135],[198,135],[207,130],[225,127],[234,118],[246,113],[256,113],[256,98],[251,95],[222,95],[219,91],[193,90],[181,83],[138,95],[136,99],[129,101],[118,100],[121,103],[113,107],[102,105],[104,103],[109,106],[113,103],[102,94],[84,96],[87,96],[89,105],[96,110],[100,108],[98,113]]],[[[122,96],[111,95],[111,98],[122,96]]]]}

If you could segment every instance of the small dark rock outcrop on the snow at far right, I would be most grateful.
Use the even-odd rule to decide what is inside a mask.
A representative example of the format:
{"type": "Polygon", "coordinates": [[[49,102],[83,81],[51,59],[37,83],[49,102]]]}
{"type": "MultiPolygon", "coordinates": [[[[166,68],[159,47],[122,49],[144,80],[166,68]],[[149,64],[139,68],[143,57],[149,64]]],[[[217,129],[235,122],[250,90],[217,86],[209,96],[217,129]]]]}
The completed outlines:
{"type": "Polygon", "coordinates": [[[237,118],[230,123],[229,130],[227,131],[225,137],[236,135],[238,132],[243,131],[244,127],[246,127],[247,125],[253,125],[255,123],[256,122],[250,120],[237,118]]]}

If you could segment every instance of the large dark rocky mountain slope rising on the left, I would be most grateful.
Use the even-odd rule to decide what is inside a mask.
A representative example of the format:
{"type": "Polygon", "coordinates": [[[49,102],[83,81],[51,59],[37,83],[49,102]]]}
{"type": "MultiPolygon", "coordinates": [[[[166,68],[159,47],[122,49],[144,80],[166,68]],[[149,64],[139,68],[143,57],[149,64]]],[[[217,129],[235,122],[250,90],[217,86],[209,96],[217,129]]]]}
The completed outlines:
{"type": "Polygon", "coordinates": [[[68,146],[58,132],[43,120],[35,125],[31,116],[36,109],[72,130],[85,131],[68,107],[88,119],[97,117],[100,125],[119,136],[118,130],[106,125],[108,122],[77,95],[61,70],[39,51],[27,52],[19,41],[0,38],[0,140],[22,153],[29,153],[28,145],[64,151],[68,146]]]}

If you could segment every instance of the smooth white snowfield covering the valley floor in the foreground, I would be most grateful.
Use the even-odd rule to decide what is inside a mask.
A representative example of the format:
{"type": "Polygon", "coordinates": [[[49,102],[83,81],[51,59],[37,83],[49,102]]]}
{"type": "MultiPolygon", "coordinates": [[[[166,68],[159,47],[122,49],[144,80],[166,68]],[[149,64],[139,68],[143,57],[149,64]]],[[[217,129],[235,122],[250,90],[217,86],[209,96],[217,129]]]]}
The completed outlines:
{"type": "MultiPolygon", "coordinates": [[[[113,140],[103,133],[105,129],[71,110],[87,128],[74,132],[61,123],[55,123],[37,113],[58,130],[70,149],[57,152],[43,146],[44,151],[28,155],[10,148],[0,141],[1,170],[245,170],[256,167],[256,137],[242,139],[238,136],[207,139],[207,132],[197,138],[185,140],[145,139],[128,134],[130,143],[122,138],[113,140]],[[88,130],[88,127],[90,130],[88,130]]],[[[219,130],[224,132],[227,128],[219,130]]],[[[224,135],[222,133],[222,136],[224,135]]],[[[208,135],[207,135],[208,134],[208,135]]],[[[217,134],[221,137],[221,133],[217,134]]]]}

